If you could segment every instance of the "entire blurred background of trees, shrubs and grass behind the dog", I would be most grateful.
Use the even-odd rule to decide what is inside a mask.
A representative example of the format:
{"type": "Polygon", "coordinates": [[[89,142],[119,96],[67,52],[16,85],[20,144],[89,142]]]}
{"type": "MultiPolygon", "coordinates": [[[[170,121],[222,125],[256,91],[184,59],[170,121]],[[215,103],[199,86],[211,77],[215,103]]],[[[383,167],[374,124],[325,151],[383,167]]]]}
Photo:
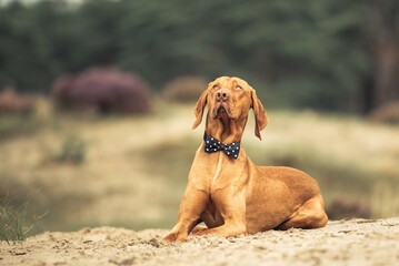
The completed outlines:
{"type": "Polygon", "coordinates": [[[393,0],[0,1],[0,237],[171,227],[203,133],[192,102],[219,75],[268,111],[263,141],[252,117],[242,141],[257,164],[315,176],[330,218],[398,216],[398,14],[393,0]]]}

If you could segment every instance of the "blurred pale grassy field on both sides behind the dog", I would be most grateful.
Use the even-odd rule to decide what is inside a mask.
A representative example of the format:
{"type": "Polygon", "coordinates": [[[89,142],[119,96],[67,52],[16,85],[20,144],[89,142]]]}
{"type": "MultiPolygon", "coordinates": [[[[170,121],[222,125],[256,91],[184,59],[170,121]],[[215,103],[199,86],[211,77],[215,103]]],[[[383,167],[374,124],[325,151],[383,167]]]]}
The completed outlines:
{"type": "MultiPolygon", "coordinates": [[[[159,103],[144,116],[100,117],[54,114],[42,100],[32,116],[2,116],[0,197],[28,200],[30,218],[46,213],[44,231],[169,228],[203,134],[203,124],[191,131],[192,109],[159,103]]],[[[252,117],[242,140],[255,163],[308,172],[332,217],[337,202],[355,216],[399,216],[399,126],[311,111],[268,115],[263,141],[252,117]]]]}

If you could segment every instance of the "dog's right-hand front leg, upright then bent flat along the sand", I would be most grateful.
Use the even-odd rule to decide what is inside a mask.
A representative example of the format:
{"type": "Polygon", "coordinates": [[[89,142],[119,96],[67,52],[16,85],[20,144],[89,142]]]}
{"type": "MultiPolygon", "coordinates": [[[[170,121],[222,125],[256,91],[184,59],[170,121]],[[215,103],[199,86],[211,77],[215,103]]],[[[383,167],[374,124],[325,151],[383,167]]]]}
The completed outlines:
{"type": "Polygon", "coordinates": [[[246,197],[245,194],[218,192],[212,195],[225,223],[221,226],[197,232],[196,235],[218,235],[223,237],[237,236],[247,233],[246,226],[246,197]]]}

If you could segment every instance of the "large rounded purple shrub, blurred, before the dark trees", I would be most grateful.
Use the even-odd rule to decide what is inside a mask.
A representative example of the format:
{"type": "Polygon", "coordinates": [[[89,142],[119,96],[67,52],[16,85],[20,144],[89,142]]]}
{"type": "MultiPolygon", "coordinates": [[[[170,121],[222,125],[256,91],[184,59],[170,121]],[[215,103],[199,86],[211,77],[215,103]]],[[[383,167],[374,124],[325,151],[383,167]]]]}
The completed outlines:
{"type": "Polygon", "coordinates": [[[149,86],[138,75],[117,69],[93,68],[63,75],[53,83],[57,106],[101,113],[146,113],[151,109],[149,86]]]}

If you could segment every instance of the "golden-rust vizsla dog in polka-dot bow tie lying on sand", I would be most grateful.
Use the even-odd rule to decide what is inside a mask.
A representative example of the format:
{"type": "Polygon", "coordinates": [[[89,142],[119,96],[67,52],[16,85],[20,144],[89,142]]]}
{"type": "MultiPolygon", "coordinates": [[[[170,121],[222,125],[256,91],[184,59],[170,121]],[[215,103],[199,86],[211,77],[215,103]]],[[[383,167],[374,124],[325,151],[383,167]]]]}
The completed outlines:
{"type": "Polygon", "coordinates": [[[203,143],[193,160],[178,224],[166,241],[194,235],[236,236],[272,228],[326,225],[323,198],[308,174],[282,166],[256,166],[240,146],[250,109],[255,134],[268,123],[256,91],[243,80],[221,76],[197,102],[196,129],[208,106],[203,143]],[[194,228],[203,222],[207,228],[194,228]]]}

